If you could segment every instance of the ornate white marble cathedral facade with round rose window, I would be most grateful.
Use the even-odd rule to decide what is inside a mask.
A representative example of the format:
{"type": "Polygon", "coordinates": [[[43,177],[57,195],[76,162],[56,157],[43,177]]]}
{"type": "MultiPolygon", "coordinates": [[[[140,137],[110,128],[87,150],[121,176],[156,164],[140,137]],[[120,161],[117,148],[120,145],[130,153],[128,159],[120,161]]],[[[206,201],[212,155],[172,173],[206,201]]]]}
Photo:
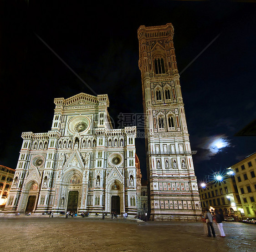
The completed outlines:
{"type": "Polygon", "coordinates": [[[136,127],[113,129],[107,95],[80,93],[54,103],[50,131],[22,133],[5,211],[136,214],[136,127]]]}

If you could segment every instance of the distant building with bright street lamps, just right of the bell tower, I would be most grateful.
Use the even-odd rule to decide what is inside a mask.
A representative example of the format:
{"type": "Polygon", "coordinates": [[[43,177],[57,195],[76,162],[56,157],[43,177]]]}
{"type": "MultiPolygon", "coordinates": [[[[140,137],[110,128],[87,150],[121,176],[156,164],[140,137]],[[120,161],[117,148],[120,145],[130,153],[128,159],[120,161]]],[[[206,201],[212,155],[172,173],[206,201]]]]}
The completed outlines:
{"type": "Polygon", "coordinates": [[[206,183],[199,194],[203,211],[210,209],[214,212],[217,208],[225,217],[233,217],[236,221],[244,217],[234,176],[206,183]]]}

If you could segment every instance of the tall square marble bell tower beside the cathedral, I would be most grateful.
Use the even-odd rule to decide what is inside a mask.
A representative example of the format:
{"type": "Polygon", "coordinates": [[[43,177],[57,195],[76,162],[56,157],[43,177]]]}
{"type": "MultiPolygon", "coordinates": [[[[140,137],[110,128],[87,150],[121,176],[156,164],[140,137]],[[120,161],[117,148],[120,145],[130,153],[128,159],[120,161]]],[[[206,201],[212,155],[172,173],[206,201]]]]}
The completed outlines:
{"type": "Polygon", "coordinates": [[[138,29],[150,218],[196,220],[201,206],[171,23],[138,29]]]}

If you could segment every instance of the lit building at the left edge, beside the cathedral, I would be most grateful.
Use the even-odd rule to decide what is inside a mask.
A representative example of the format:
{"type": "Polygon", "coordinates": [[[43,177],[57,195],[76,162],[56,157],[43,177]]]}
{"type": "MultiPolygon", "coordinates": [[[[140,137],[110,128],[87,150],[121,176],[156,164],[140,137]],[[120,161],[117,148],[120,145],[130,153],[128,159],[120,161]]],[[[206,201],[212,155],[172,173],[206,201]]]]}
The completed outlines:
{"type": "Polygon", "coordinates": [[[0,166],[0,208],[4,208],[10,192],[15,170],[0,166]]]}

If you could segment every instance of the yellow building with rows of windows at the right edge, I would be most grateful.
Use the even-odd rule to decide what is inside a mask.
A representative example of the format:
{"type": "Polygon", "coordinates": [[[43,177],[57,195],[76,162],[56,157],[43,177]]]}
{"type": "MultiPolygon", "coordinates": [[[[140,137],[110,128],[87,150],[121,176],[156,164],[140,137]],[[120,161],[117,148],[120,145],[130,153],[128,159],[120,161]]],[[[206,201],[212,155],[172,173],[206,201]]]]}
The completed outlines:
{"type": "Polygon", "coordinates": [[[231,166],[246,218],[256,218],[256,153],[231,166]]]}

